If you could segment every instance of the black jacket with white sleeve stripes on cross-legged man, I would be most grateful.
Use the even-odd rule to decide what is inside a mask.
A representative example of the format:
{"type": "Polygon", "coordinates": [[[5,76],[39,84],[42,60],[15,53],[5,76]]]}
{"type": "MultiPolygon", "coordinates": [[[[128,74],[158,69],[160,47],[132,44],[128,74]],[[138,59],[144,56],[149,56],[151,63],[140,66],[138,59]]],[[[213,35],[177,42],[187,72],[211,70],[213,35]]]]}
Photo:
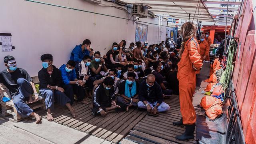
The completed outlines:
{"type": "Polygon", "coordinates": [[[95,108],[105,108],[106,106],[111,106],[111,101],[115,100],[115,88],[112,86],[108,90],[109,95],[106,95],[106,88],[103,84],[100,84],[94,91],[93,95],[93,105],[95,108]]]}

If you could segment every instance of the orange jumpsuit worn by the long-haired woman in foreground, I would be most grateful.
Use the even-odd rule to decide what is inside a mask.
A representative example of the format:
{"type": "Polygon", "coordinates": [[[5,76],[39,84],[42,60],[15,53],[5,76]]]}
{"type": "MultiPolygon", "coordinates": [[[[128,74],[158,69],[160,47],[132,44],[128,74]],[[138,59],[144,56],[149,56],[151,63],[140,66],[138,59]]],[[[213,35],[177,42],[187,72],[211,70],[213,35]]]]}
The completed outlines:
{"type": "Polygon", "coordinates": [[[179,90],[180,90],[180,112],[183,124],[191,125],[196,122],[196,112],[192,104],[193,94],[196,88],[196,68],[202,67],[202,60],[199,54],[199,44],[194,38],[185,42],[185,48],[178,63],[179,90]]]}

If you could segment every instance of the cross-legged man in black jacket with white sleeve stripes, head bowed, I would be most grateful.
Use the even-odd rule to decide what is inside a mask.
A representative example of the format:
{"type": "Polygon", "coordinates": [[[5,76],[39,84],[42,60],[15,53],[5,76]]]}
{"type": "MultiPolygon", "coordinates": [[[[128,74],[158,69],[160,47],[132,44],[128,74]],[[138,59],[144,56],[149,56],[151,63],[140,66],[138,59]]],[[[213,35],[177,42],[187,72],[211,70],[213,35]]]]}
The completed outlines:
{"type": "Polygon", "coordinates": [[[110,112],[116,111],[120,106],[115,102],[114,80],[110,76],[106,77],[94,91],[92,114],[106,116],[110,112]]]}

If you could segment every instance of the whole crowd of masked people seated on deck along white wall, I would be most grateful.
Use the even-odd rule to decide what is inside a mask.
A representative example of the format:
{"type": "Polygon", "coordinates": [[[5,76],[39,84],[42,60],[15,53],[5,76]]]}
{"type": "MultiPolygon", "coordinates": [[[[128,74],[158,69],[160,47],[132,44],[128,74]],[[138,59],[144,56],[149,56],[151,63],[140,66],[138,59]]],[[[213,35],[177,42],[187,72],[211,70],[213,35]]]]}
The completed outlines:
{"type": "MultiPolygon", "coordinates": [[[[70,60],[60,68],[54,66],[51,54],[41,56],[42,69],[38,70],[39,93],[45,98],[47,120],[52,121],[54,102],[66,106],[73,117],[78,116],[72,107],[74,101],[92,98],[93,114],[105,116],[109,112],[142,108],[150,116],[169,110],[164,102],[172,94],[179,94],[177,80],[177,50],[160,44],[145,42],[119,44],[113,42],[106,54],[94,52],[86,39],[74,47],[70,60]]],[[[41,117],[27,103],[38,100],[38,92],[26,70],[17,68],[13,56],[5,56],[6,69],[0,73],[0,82],[10,90],[17,112],[25,117],[32,115],[36,122],[41,117]]]]}

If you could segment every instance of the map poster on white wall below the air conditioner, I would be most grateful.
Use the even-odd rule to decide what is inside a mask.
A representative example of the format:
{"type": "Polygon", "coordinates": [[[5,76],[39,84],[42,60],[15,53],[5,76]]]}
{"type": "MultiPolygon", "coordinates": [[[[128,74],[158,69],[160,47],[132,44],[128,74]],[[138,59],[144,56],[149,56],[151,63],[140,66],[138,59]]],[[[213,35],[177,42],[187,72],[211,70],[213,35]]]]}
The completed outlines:
{"type": "Polygon", "coordinates": [[[135,42],[144,43],[148,39],[148,25],[136,23],[135,42]]]}

